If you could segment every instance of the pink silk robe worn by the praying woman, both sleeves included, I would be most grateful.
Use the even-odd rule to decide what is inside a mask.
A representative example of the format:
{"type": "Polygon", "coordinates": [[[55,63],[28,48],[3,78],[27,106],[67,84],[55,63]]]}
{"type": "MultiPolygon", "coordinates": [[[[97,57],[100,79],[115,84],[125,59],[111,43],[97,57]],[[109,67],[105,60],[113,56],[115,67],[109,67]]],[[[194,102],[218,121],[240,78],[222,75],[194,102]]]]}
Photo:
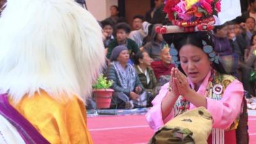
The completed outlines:
{"type": "MultiPolygon", "coordinates": [[[[204,97],[208,79],[211,76],[211,72],[207,74],[203,83],[200,85],[197,93],[200,93],[204,97]]],[[[189,81],[192,88],[194,88],[193,83],[189,81]]],[[[161,112],[161,103],[166,93],[168,92],[169,84],[166,83],[162,86],[159,95],[152,101],[153,107],[148,111],[146,118],[147,122],[154,131],[157,131],[166,122],[174,117],[174,111],[172,110],[170,114],[163,120],[161,112]]],[[[214,100],[210,98],[207,99],[207,110],[211,113],[214,123],[213,128],[227,129],[236,120],[237,116],[241,112],[241,104],[243,100],[244,88],[243,84],[237,80],[230,83],[221,100],[214,100]]],[[[195,109],[196,107],[190,103],[189,109],[195,109]]],[[[208,143],[211,144],[211,135],[209,136],[208,143]]],[[[236,131],[225,132],[225,144],[236,144],[236,131]]]]}

